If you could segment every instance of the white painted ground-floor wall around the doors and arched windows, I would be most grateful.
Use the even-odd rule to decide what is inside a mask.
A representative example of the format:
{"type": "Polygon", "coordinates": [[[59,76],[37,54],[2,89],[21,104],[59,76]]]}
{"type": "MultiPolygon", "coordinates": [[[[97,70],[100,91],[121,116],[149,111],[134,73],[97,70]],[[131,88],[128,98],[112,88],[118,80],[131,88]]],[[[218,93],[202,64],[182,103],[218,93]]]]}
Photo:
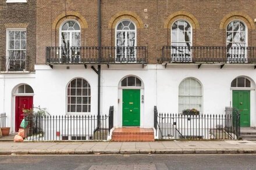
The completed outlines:
{"type": "MultiPolygon", "coordinates": [[[[91,114],[97,114],[98,75],[87,66],[36,65],[35,74],[0,74],[0,113],[6,112],[7,125],[14,122],[12,91],[19,84],[29,84],[34,89],[34,106],[46,107],[52,115],[66,114],[66,86],[73,78],[87,79],[91,86],[91,114]]],[[[97,68],[97,66],[95,66],[97,68]]],[[[109,106],[114,106],[114,125],[122,126],[122,104],[118,87],[122,78],[136,75],[144,83],[144,104],[141,104],[141,127],[153,126],[154,106],[162,113],[178,112],[179,84],[184,78],[197,78],[203,88],[202,113],[224,114],[226,106],[232,106],[230,84],[238,76],[245,75],[256,81],[253,66],[226,65],[102,65],[101,114],[108,115],[109,106]],[[119,103],[118,103],[119,99],[119,103]],[[230,105],[231,104],[231,105],[230,105]]],[[[256,93],[251,91],[251,126],[256,126],[256,93]]]]}

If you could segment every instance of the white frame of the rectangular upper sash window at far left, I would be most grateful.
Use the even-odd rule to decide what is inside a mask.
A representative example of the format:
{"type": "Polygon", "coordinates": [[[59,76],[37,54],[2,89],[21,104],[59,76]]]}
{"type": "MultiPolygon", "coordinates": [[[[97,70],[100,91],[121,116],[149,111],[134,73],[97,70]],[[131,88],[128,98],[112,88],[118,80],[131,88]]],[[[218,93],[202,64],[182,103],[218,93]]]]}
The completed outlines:
{"type": "MultiPolygon", "coordinates": [[[[6,71],[9,69],[9,31],[26,31],[26,59],[27,59],[27,28],[6,28],[6,71]]],[[[21,45],[21,44],[20,44],[21,45]]],[[[26,62],[26,61],[25,61],[26,62]]],[[[26,69],[26,66],[25,66],[26,69]]],[[[24,70],[23,70],[24,71],[24,70]]]]}

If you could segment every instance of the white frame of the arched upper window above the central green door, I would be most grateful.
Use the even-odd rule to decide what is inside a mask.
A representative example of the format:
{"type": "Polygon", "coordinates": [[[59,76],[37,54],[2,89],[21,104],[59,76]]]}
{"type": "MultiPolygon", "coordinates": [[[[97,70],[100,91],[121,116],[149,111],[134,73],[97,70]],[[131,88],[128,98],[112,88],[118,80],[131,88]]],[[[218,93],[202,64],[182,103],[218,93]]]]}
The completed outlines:
{"type": "MultiPolygon", "coordinates": [[[[135,37],[134,37],[134,39],[135,39],[135,42],[134,42],[134,47],[136,47],[137,46],[137,26],[136,26],[136,24],[132,21],[132,20],[129,20],[129,19],[123,19],[123,20],[120,20],[117,24],[116,24],[116,28],[115,28],[115,46],[116,46],[116,48],[118,47],[118,45],[117,45],[117,35],[118,35],[118,32],[121,32],[121,30],[118,30],[118,26],[119,26],[119,24],[120,23],[122,23],[123,21],[130,21],[131,23],[133,23],[133,25],[134,25],[134,30],[125,30],[125,42],[126,42],[126,44],[125,44],[125,46],[124,47],[127,47],[127,43],[128,43],[128,41],[127,41],[127,32],[135,32],[135,37]]],[[[122,30],[122,31],[124,31],[124,30],[122,30]]],[[[116,53],[116,55],[115,55],[115,60],[116,60],[116,56],[117,56],[117,50],[115,50],[115,53],[116,53]]],[[[134,49],[134,59],[135,59],[135,61],[129,61],[129,63],[133,63],[133,62],[136,62],[136,60],[137,60],[137,51],[136,51],[136,49],[134,49]]],[[[125,50],[125,58],[127,59],[127,50],[125,50]]],[[[116,63],[122,63],[122,62],[116,62],[116,63]]]]}

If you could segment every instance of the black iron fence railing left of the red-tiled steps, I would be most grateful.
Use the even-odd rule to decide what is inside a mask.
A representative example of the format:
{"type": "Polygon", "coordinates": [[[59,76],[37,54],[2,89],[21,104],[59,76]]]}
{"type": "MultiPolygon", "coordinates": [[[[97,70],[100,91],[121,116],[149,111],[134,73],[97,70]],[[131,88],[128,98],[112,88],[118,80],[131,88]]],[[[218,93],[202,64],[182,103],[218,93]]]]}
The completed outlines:
{"type": "Polygon", "coordinates": [[[109,125],[112,120],[108,119],[112,119],[112,116],[27,116],[26,140],[106,140],[112,128],[109,125]]]}

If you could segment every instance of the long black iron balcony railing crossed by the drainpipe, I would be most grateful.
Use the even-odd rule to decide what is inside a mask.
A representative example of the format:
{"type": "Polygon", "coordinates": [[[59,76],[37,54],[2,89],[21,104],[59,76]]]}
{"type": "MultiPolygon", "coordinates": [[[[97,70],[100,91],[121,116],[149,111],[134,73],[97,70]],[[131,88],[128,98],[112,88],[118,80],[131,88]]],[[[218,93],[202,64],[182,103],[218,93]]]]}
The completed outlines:
{"type": "Polygon", "coordinates": [[[144,64],[145,46],[48,46],[47,64],[144,64]]]}

